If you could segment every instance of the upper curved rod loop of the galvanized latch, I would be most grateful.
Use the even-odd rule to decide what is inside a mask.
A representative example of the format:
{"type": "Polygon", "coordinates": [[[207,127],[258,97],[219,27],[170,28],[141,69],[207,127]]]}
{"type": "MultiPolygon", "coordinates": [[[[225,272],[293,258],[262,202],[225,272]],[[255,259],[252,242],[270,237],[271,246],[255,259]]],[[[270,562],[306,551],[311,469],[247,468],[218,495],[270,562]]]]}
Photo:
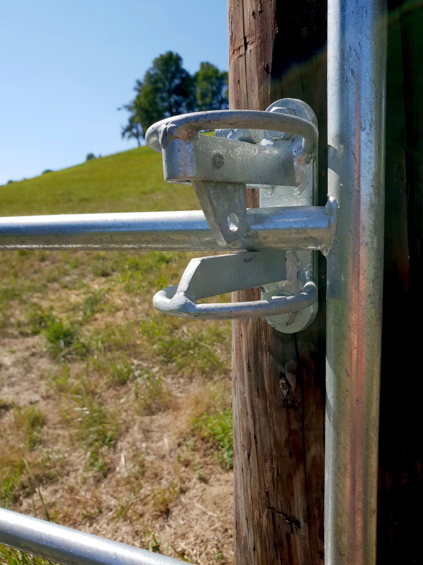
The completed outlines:
{"type": "Polygon", "coordinates": [[[204,129],[233,128],[294,133],[303,138],[302,147],[306,153],[312,153],[319,139],[316,126],[298,116],[258,110],[213,110],[158,121],[147,129],[146,142],[161,153],[162,147],[174,139],[190,141],[204,129]]]}

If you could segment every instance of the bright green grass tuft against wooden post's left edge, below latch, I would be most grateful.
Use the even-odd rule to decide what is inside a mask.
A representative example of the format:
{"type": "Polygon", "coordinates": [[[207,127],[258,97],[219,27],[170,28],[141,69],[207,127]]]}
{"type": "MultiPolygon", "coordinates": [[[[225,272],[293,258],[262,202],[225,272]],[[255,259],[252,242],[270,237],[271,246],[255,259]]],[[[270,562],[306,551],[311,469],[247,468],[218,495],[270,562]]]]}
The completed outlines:
{"type": "Polygon", "coordinates": [[[214,414],[203,414],[193,423],[193,431],[214,447],[214,455],[222,467],[233,467],[232,412],[230,408],[214,414]]]}

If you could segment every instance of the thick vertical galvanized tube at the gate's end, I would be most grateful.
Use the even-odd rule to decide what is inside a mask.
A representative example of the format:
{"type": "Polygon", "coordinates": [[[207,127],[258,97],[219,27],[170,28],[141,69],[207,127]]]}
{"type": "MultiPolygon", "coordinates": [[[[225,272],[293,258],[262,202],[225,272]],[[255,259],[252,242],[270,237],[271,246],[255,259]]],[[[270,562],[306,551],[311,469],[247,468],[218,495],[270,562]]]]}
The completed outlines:
{"type": "Polygon", "coordinates": [[[376,562],[384,257],[386,6],[328,2],[325,563],[376,562]]]}

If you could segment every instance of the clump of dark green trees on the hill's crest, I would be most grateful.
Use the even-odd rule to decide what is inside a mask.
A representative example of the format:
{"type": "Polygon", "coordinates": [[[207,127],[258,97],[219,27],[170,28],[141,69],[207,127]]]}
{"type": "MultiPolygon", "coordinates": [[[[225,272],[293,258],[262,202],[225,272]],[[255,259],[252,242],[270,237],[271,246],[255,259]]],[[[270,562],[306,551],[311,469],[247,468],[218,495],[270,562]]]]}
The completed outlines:
{"type": "Polygon", "coordinates": [[[140,139],[156,121],[186,112],[223,110],[228,107],[228,73],[201,63],[193,76],[182,58],[168,51],[153,60],[143,80],[135,83],[135,98],[124,108],[129,112],[123,138],[140,139]]]}

